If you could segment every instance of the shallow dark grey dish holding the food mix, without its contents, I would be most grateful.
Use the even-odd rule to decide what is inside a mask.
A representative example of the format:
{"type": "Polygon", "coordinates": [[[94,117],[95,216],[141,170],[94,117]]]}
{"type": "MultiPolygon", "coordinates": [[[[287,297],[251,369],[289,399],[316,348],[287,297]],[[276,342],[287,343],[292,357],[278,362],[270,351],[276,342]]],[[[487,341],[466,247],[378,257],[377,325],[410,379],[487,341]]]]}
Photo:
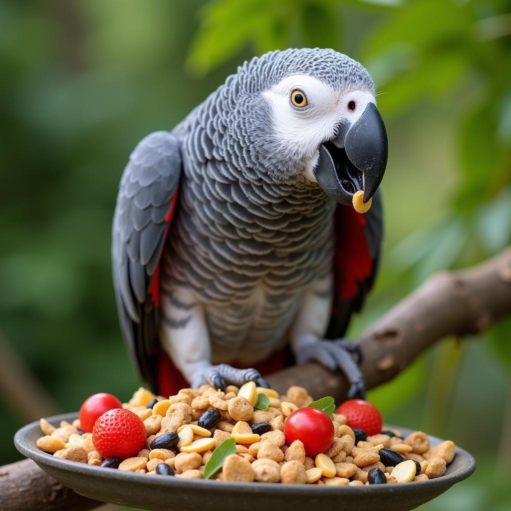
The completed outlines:
{"type": "MultiPolygon", "coordinates": [[[[58,426],[60,421],[72,422],[77,413],[49,417],[58,426]]],[[[393,427],[393,426],[390,426],[393,427]]],[[[405,435],[411,432],[400,429],[405,435]]],[[[443,477],[404,484],[365,486],[317,486],[315,484],[236,483],[181,479],[178,477],[135,474],[75,463],[36,447],[42,435],[39,422],[21,428],[14,436],[16,448],[33,459],[42,470],[85,497],[155,511],[254,511],[254,509],[343,508],[350,511],[408,511],[444,493],[453,484],[469,477],[475,470],[474,458],[456,447],[454,461],[443,477]]],[[[429,437],[431,445],[442,442],[429,437]]]]}

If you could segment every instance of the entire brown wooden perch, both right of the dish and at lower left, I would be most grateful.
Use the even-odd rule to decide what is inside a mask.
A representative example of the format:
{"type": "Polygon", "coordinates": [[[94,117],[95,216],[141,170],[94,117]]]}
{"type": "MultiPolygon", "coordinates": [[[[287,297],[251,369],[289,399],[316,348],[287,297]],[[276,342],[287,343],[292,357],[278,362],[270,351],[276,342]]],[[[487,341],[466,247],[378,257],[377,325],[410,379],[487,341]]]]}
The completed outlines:
{"type": "MultiPolygon", "coordinates": [[[[404,298],[357,341],[367,388],[385,383],[412,360],[447,335],[477,334],[511,314],[511,248],[473,268],[432,276],[404,298]]],[[[294,366],[268,377],[285,392],[305,386],[314,398],[346,397],[346,379],[318,364],[294,366]]],[[[101,503],[86,499],[44,474],[31,460],[0,468],[0,509],[48,511],[92,509],[101,503]]]]}

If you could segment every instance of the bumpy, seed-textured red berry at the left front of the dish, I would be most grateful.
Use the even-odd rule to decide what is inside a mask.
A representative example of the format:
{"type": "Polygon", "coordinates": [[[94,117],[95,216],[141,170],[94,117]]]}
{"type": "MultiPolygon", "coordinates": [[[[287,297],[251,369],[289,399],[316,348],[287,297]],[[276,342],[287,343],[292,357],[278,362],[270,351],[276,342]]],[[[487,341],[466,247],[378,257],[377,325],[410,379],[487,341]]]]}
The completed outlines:
{"type": "Polygon", "coordinates": [[[130,458],[146,444],[146,427],[129,410],[113,408],[108,410],[94,425],[92,442],[104,458],[130,458]]]}

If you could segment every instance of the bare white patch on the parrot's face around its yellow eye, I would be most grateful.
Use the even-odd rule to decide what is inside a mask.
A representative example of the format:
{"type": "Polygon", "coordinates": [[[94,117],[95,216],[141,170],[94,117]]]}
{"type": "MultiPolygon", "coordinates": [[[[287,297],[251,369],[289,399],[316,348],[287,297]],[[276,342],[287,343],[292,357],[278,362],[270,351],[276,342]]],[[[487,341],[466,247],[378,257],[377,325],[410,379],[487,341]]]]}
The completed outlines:
{"type": "Polygon", "coordinates": [[[279,140],[305,159],[304,172],[315,181],[312,169],[317,163],[319,144],[335,136],[336,126],[344,121],[353,125],[368,103],[376,104],[373,94],[364,90],[335,90],[307,75],[293,75],[263,92],[273,111],[273,129],[279,140]],[[305,95],[307,106],[293,106],[294,90],[305,95]],[[352,109],[355,103],[355,108],[352,109]]]}

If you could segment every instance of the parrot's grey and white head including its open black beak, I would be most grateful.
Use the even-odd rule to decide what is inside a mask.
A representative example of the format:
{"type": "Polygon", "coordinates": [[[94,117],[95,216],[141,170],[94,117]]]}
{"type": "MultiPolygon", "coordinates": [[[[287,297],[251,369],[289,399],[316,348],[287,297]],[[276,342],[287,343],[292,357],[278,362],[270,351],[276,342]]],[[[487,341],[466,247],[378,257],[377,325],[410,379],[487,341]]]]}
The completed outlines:
{"type": "Polygon", "coordinates": [[[236,109],[250,156],[282,181],[315,181],[351,205],[377,191],[387,164],[387,133],[375,85],[357,61],[328,49],[271,52],[238,71],[236,109]]]}

